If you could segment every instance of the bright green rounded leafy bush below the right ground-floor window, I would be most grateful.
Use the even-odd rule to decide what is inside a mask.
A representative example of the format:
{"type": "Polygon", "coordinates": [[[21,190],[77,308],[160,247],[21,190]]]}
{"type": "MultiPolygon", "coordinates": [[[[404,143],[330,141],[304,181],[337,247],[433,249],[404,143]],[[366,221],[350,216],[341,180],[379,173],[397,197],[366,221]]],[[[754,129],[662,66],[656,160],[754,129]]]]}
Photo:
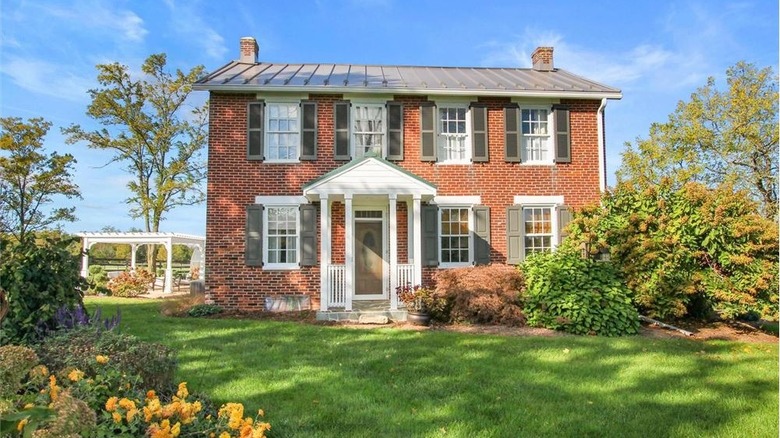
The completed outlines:
{"type": "Polygon", "coordinates": [[[525,273],[528,324],[578,335],[636,334],[639,315],[629,290],[608,262],[583,259],[561,247],[530,256],[525,273]]]}

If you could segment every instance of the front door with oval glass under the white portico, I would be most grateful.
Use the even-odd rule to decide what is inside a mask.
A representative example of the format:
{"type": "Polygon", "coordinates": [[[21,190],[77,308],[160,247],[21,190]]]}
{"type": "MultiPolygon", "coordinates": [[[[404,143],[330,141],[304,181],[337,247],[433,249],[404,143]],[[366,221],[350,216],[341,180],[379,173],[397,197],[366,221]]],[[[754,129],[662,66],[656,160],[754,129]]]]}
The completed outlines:
{"type": "Polygon", "coordinates": [[[355,298],[384,297],[382,220],[355,221],[355,298]]]}

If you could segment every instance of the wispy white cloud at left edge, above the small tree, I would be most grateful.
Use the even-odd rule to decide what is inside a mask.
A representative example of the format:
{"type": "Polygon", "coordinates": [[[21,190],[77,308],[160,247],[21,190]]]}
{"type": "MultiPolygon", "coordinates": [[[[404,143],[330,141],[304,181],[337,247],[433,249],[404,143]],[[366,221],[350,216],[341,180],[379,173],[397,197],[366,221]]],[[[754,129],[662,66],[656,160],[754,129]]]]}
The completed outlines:
{"type": "Polygon", "coordinates": [[[41,59],[7,56],[0,64],[0,72],[25,90],[73,102],[87,101],[87,90],[94,86],[91,79],[64,71],[62,65],[41,59]]]}

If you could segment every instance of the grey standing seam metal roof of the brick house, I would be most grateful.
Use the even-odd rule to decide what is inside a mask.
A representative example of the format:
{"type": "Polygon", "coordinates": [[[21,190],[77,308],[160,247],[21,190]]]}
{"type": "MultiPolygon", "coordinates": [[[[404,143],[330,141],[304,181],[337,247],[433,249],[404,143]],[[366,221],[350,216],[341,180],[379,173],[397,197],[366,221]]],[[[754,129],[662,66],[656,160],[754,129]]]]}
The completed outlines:
{"type": "Polygon", "coordinates": [[[619,89],[569,73],[531,68],[232,61],[198,80],[196,90],[479,94],[620,99],[619,89]]]}

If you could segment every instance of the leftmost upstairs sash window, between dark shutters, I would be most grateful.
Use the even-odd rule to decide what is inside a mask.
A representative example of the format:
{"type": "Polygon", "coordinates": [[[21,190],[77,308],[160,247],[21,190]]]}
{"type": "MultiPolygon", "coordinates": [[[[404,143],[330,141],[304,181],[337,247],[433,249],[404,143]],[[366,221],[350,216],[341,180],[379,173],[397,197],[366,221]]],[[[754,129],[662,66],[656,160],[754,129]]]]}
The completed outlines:
{"type": "Polygon", "coordinates": [[[266,159],[298,161],[300,152],[300,107],[298,103],[268,103],[266,106],[266,159]]]}

